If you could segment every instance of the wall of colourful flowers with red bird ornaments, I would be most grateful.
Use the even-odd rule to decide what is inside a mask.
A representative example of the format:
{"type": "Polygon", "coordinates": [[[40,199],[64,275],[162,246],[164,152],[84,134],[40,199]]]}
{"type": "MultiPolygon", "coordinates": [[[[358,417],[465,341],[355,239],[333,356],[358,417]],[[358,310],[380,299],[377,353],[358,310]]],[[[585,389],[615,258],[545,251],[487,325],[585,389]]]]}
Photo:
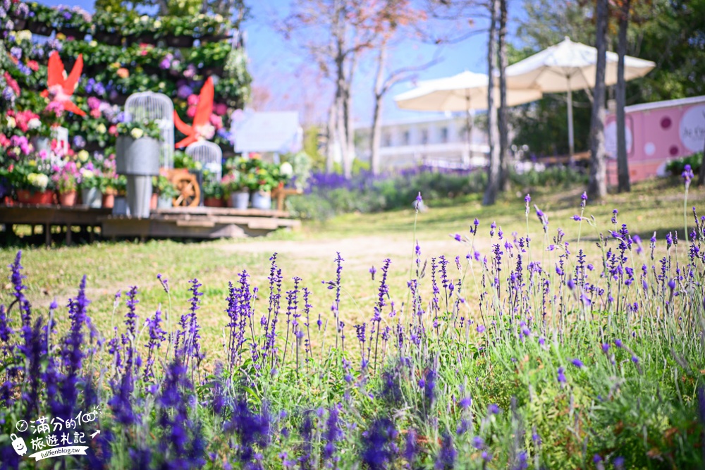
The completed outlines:
{"type": "MultiPolygon", "coordinates": [[[[0,197],[71,181],[118,189],[114,149],[125,99],[161,92],[192,121],[211,76],[212,110],[200,134],[232,154],[229,116],[250,94],[247,59],[229,40],[232,28],[218,16],[91,16],[78,7],[0,0],[0,197]],[[68,149],[52,139],[59,126],[68,130],[68,149]]],[[[177,141],[185,137],[176,132],[177,141]]]]}

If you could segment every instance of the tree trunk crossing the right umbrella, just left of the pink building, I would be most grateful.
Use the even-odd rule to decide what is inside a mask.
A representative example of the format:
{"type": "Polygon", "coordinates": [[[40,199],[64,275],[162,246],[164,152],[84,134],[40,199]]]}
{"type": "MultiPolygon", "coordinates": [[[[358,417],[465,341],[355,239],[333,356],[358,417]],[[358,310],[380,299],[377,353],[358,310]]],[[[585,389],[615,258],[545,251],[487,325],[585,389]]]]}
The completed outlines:
{"type": "Polygon", "coordinates": [[[597,66],[595,89],[592,93],[590,178],[587,184],[587,193],[593,199],[601,199],[607,194],[607,172],[605,167],[605,73],[607,66],[608,1],[597,0],[595,14],[597,66]]]}

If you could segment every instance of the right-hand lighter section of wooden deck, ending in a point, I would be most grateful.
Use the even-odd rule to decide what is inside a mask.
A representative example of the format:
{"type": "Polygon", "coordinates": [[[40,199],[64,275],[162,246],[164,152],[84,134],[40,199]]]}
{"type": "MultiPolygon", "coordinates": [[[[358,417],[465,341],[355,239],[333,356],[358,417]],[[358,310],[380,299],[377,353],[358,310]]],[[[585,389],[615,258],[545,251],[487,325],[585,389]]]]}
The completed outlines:
{"type": "Polygon", "coordinates": [[[286,211],[185,207],[157,209],[149,218],[106,216],[100,219],[104,237],[236,238],[266,235],[278,228],[298,228],[301,222],[286,211]]]}

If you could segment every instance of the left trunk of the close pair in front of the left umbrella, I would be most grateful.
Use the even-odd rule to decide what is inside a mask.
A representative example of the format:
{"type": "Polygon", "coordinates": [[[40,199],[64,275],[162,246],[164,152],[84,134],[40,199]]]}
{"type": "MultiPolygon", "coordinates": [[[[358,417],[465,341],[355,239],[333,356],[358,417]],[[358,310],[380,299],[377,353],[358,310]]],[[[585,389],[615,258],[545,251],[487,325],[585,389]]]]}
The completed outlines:
{"type": "Polygon", "coordinates": [[[499,0],[490,0],[490,27],[489,38],[487,40],[487,75],[489,76],[489,86],[487,87],[487,143],[489,144],[489,166],[487,167],[487,187],[482,199],[482,204],[494,204],[497,199],[499,188],[499,154],[495,146],[497,108],[494,104],[494,87],[492,76],[494,75],[494,61],[496,58],[496,35],[497,16],[499,0]]]}

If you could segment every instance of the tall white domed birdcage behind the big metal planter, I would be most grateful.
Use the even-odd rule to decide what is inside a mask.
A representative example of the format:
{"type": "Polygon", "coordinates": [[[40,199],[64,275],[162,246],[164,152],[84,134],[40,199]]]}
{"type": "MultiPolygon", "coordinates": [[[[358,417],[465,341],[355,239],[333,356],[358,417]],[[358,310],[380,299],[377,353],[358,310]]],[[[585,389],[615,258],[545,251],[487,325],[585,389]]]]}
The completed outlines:
{"type": "Polygon", "coordinates": [[[174,106],[166,94],[140,92],[131,94],[125,101],[125,119],[157,120],[161,128],[159,165],[174,166],[174,106]]]}

